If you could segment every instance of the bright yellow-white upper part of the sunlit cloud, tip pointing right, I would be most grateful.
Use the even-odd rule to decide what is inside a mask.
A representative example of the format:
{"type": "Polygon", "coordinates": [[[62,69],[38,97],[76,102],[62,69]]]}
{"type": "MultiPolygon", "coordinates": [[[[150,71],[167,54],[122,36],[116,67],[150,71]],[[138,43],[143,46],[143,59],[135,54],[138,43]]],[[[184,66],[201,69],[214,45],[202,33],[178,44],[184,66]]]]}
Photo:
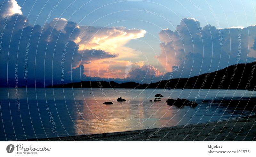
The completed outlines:
{"type": "Polygon", "coordinates": [[[132,39],[144,37],[145,34],[145,30],[125,27],[80,26],[80,35],[75,42],[79,44],[79,50],[103,49],[111,53],[119,53],[119,58],[122,58],[134,54],[133,49],[124,45],[132,39]]]}

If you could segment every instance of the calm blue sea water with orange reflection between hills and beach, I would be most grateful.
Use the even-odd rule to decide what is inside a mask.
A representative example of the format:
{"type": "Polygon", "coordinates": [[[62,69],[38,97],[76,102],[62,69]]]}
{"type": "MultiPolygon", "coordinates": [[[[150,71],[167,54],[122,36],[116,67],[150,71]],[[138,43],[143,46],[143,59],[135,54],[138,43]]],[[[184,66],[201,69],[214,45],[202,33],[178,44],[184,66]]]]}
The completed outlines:
{"type": "MultiPolygon", "coordinates": [[[[240,99],[243,90],[204,89],[70,89],[0,88],[0,140],[22,140],[58,136],[89,135],[103,132],[132,131],[204,123],[239,116],[252,110],[226,107],[219,100],[240,99]],[[160,102],[155,94],[162,94],[160,102]],[[126,101],[116,102],[118,97],[126,101]],[[214,98],[216,97],[216,99],[214,98]],[[168,98],[197,99],[198,106],[169,106],[168,98]],[[208,112],[209,102],[212,100],[208,112]],[[103,102],[114,100],[112,105],[103,102]]],[[[246,91],[245,97],[256,97],[246,91]]]]}

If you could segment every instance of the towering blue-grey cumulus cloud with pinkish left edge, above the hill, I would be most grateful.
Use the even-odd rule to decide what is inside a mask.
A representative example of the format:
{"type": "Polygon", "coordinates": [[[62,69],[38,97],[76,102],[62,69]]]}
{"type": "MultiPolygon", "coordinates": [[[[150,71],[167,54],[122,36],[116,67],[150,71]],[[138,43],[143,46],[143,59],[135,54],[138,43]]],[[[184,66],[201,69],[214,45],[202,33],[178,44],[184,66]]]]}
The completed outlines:
{"type": "Polygon", "coordinates": [[[249,63],[255,60],[256,26],[217,29],[203,28],[196,19],[182,19],[173,32],[164,29],[159,33],[163,41],[161,54],[157,56],[167,71],[175,77],[191,77],[212,72],[229,65],[249,63]]]}

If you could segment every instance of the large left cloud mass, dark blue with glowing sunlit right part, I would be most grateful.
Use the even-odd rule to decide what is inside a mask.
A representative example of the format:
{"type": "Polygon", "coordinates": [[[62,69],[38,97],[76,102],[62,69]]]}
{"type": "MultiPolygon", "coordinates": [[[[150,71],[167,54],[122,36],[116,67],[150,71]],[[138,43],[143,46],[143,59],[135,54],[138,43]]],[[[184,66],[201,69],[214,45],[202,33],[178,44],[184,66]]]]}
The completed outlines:
{"type": "Polygon", "coordinates": [[[15,0],[4,1],[0,15],[1,86],[7,86],[7,80],[8,86],[24,86],[25,81],[48,85],[117,78],[122,75],[113,71],[124,66],[117,71],[124,75],[129,61],[122,58],[132,53],[129,48],[121,51],[124,44],[146,33],[125,27],[79,26],[64,18],[31,26],[15,0]]]}

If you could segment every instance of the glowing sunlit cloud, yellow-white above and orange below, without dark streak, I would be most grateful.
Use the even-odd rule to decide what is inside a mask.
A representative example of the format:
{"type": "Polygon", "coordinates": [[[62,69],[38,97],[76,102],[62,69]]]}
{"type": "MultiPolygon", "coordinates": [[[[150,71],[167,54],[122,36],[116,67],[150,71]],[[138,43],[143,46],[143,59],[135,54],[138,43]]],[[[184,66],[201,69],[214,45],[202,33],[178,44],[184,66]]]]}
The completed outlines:
{"type": "MultiPolygon", "coordinates": [[[[79,45],[80,53],[88,50],[92,52],[93,50],[104,50],[104,53],[113,54],[113,57],[108,55],[108,58],[93,58],[93,62],[90,64],[83,64],[86,76],[101,78],[125,78],[127,66],[131,66],[132,63],[125,61],[124,58],[136,57],[139,54],[124,45],[130,40],[141,38],[146,34],[145,30],[126,29],[125,27],[79,26],[79,30],[80,34],[75,42],[79,45]]],[[[140,64],[140,67],[143,66],[142,62],[136,64],[140,64]]]]}

